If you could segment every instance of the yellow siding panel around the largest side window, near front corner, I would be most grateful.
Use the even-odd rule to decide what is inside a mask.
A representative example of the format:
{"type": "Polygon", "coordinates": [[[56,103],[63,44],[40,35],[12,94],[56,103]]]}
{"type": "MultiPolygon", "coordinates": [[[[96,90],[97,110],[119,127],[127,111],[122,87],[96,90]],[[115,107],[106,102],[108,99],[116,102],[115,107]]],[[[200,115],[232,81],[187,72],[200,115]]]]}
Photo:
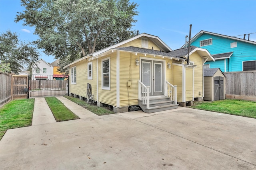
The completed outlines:
{"type": "Polygon", "coordinates": [[[100,103],[116,107],[116,53],[98,59],[98,83],[100,103]],[[110,57],[110,90],[102,89],[102,59],[110,57]]]}

